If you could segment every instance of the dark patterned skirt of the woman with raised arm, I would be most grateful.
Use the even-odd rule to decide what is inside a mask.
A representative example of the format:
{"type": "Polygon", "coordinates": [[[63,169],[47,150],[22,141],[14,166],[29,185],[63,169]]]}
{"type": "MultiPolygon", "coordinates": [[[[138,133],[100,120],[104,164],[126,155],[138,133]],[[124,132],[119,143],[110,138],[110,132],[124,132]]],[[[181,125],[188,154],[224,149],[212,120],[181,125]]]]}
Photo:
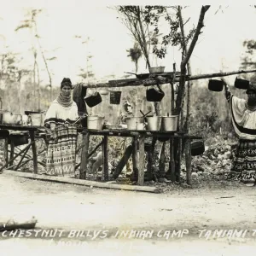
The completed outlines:
{"type": "Polygon", "coordinates": [[[255,183],[256,140],[239,140],[228,178],[255,183]]]}

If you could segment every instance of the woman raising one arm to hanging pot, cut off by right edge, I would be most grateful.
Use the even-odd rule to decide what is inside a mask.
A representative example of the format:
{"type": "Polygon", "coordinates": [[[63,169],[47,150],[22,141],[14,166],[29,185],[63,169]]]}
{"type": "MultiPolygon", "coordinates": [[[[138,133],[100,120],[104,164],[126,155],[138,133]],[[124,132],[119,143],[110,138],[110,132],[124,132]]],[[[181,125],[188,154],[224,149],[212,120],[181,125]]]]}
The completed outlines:
{"type": "Polygon", "coordinates": [[[256,85],[249,85],[247,100],[244,100],[233,96],[227,82],[222,80],[230,103],[232,124],[239,139],[228,177],[256,185],[256,85]]]}

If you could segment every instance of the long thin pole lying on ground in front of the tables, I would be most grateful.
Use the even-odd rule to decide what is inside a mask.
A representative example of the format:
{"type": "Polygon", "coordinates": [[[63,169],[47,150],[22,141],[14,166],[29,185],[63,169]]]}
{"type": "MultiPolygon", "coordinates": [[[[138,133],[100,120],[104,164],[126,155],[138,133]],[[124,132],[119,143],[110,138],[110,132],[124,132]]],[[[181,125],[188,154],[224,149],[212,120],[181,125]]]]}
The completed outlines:
{"type": "Polygon", "coordinates": [[[123,184],[113,184],[113,183],[100,183],[96,181],[82,180],[71,177],[56,177],[56,176],[48,176],[48,175],[38,175],[34,173],[27,172],[15,172],[5,170],[5,174],[9,174],[11,176],[16,177],[27,177],[32,179],[46,180],[46,181],[54,181],[61,183],[71,183],[84,185],[89,187],[103,188],[103,189],[122,189],[122,190],[131,190],[131,191],[141,191],[141,192],[150,192],[150,193],[160,193],[161,189],[155,187],[146,187],[146,186],[133,186],[133,185],[123,185],[123,184]]]}

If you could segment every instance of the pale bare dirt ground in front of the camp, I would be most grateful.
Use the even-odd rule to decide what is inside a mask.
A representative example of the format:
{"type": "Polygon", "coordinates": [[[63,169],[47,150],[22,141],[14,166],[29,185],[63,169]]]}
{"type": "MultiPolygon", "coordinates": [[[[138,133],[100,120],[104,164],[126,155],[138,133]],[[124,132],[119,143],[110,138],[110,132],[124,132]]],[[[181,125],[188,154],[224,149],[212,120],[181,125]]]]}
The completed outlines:
{"type": "Polygon", "coordinates": [[[50,183],[3,172],[0,222],[34,216],[38,234],[49,229],[56,233],[53,238],[0,233],[1,255],[254,253],[256,187],[216,180],[194,183],[192,189],[166,184],[164,193],[149,194],[50,183]],[[124,232],[116,236],[122,230],[126,236],[124,232]],[[223,237],[213,236],[214,230],[223,230],[218,233],[223,237]],[[235,231],[241,231],[242,237],[235,231]]]}

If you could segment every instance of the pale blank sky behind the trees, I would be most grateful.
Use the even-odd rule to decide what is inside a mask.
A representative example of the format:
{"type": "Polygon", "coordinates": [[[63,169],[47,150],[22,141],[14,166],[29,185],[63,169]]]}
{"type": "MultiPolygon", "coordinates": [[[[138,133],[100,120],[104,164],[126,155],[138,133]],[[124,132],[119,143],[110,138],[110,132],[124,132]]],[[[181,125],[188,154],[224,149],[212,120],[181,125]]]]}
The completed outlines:
{"type": "MultiPolygon", "coordinates": [[[[133,46],[134,40],[117,18],[118,14],[113,9],[116,3],[88,3],[80,0],[0,0],[0,3],[0,52],[3,53],[8,46],[9,50],[19,53],[23,58],[20,65],[24,67],[32,66],[33,63],[32,52],[29,51],[32,47],[31,35],[27,29],[15,32],[15,28],[20,25],[21,20],[26,20],[27,9],[43,9],[38,15],[38,34],[46,57],[56,57],[55,61],[49,61],[54,85],[60,84],[63,77],[71,78],[73,83],[81,81],[78,75],[80,69],[87,65],[87,55],[92,55],[88,64],[98,81],[110,75],[118,79],[124,72],[135,72],[135,65],[126,52],[126,49],[133,46]],[[86,38],[90,38],[89,43],[82,44],[86,38]]],[[[119,3],[122,4],[122,1],[119,3]]],[[[140,3],[156,4],[148,1],[140,3]]],[[[200,15],[201,3],[195,3],[183,9],[183,20],[190,18],[185,27],[186,32],[196,26],[200,15]]],[[[205,16],[205,26],[191,56],[193,74],[238,70],[241,55],[245,52],[243,41],[256,39],[256,9],[249,3],[237,5],[224,1],[222,9],[218,8],[219,4],[215,2],[205,16]]],[[[166,31],[164,24],[162,30],[166,31]]],[[[158,60],[157,64],[165,66],[166,71],[172,71],[173,62],[179,68],[180,58],[177,47],[170,46],[166,58],[158,60]]],[[[40,55],[38,63],[41,79],[47,84],[48,77],[40,55]]],[[[155,64],[153,61],[153,65],[155,64]]],[[[144,72],[146,67],[142,59],[138,73],[144,72]]],[[[234,76],[230,77],[233,78],[234,76]]]]}

